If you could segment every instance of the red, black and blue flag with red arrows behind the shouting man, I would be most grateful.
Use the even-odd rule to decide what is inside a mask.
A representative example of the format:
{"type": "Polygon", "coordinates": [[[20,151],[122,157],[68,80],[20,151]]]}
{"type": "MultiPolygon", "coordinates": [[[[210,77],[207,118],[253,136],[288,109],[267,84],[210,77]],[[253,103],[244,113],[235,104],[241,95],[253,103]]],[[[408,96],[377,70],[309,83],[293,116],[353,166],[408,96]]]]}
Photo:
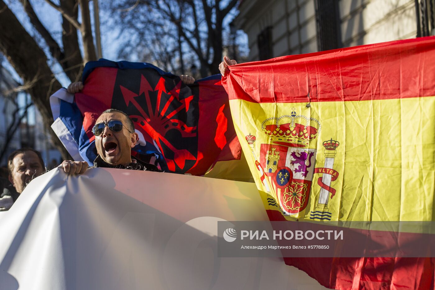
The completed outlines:
{"type": "Polygon", "coordinates": [[[132,155],[162,170],[203,175],[217,161],[240,158],[221,75],[184,84],[180,77],[147,63],[88,62],[84,89],[50,97],[52,128],[75,160],[96,158],[92,127],[104,110],[126,112],[139,142],[132,155]]]}

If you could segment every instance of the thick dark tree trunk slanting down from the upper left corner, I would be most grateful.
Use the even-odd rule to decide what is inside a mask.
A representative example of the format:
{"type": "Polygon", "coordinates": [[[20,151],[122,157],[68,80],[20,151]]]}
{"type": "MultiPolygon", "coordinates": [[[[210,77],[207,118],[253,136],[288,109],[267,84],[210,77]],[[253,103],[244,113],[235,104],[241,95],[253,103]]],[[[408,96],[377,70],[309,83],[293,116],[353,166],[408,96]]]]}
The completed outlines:
{"type": "Polygon", "coordinates": [[[48,128],[54,145],[62,154],[64,159],[70,155],[64,145],[51,130],[53,123],[49,97],[62,86],[53,76],[53,72],[47,65],[47,57],[36,41],[27,33],[24,27],[17,20],[17,17],[0,0],[0,51],[7,57],[20,78],[26,91],[32,97],[33,104],[40,111],[43,118],[43,125],[48,128]]]}

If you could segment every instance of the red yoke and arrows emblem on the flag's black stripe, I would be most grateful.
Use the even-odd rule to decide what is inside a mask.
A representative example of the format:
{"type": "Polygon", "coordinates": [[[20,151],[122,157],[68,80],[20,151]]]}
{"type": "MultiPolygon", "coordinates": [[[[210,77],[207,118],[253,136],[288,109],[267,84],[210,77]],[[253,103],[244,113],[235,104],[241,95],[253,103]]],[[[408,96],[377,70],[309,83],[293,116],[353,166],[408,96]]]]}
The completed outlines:
{"type": "MultiPolygon", "coordinates": [[[[166,88],[165,79],[160,77],[155,87],[141,75],[141,84],[138,92],[131,91],[120,85],[127,107],[133,104],[140,115],[130,115],[137,127],[151,136],[164,157],[170,171],[176,171],[176,166],[187,170],[186,162],[197,160],[194,152],[187,148],[179,148],[185,144],[184,138],[197,138],[197,126],[186,123],[187,111],[192,107],[193,95],[181,97],[181,81],[174,88],[166,88]],[[143,104],[139,104],[139,101],[143,104]],[[177,140],[179,142],[175,142],[177,140]]],[[[189,142],[194,144],[195,142],[189,142]]],[[[201,156],[200,156],[201,157],[201,156]]]]}

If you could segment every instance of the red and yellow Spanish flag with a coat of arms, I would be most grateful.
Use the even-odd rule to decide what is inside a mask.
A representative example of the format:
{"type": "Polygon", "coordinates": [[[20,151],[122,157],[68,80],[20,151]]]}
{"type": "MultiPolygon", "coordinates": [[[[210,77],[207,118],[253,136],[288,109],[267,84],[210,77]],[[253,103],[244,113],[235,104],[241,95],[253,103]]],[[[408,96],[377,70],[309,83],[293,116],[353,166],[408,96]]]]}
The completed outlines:
{"type": "MultiPolygon", "coordinates": [[[[272,221],[433,221],[435,37],[230,66],[272,221]]],[[[285,258],[335,289],[433,289],[432,258],[285,258]]]]}

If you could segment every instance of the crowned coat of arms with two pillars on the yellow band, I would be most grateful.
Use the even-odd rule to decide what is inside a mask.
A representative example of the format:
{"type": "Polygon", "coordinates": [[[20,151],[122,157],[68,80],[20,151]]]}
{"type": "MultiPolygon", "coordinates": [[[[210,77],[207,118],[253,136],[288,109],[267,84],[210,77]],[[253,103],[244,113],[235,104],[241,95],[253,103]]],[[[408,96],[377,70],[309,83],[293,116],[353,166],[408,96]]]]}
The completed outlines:
{"type": "MultiPolygon", "coordinates": [[[[259,131],[259,130],[258,130],[259,131]]],[[[314,140],[321,132],[321,123],[316,118],[298,115],[296,109],[291,108],[290,115],[271,117],[261,123],[261,137],[245,136],[246,142],[256,159],[261,172],[261,181],[265,191],[274,199],[286,216],[303,211],[310,198],[311,184],[315,173],[323,173],[318,177],[321,192],[318,204],[311,211],[310,219],[331,219],[328,212],[328,196],[335,194],[331,181],[335,180],[338,172],[334,165],[335,149],[339,142],[332,140],[323,142],[325,149],[325,166],[316,168],[317,148],[314,140]],[[254,153],[255,141],[260,139],[260,158],[254,153]]],[[[270,199],[270,198],[269,198],[270,199]]],[[[270,199],[271,201],[273,199],[270,199]]]]}

